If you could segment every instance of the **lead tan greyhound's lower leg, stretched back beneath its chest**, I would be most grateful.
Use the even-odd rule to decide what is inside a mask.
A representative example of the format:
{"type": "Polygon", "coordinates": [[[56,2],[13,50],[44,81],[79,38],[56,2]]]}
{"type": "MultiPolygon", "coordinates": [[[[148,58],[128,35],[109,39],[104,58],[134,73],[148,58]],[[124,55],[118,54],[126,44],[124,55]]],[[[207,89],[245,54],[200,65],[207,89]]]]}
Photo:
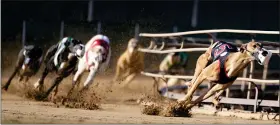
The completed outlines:
{"type": "Polygon", "coordinates": [[[209,97],[211,97],[212,95],[214,95],[218,91],[220,93],[222,90],[225,90],[230,85],[232,85],[232,83],[233,82],[229,82],[227,84],[216,84],[214,87],[209,89],[209,91],[206,91],[204,94],[199,96],[199,98],[197,98],[195,101],[193,101],[192,103],[188,104],[187,108],[191,108],[191,107],[195,106],[196,104],[202,102],[203,100],[208,99],[209,97]]]}

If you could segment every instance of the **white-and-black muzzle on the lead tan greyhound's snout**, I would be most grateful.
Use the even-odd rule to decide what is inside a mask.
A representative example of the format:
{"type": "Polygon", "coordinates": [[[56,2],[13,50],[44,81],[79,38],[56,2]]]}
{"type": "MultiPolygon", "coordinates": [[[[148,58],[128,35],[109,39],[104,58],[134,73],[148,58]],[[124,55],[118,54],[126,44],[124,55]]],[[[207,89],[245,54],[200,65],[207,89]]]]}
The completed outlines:
{"type": "Polygon", "coordinates": [[[262,48],[260,51],[255,52],[253,56],[255,57],[255,59],[260,65],[266,65],[268,64],[272,56],[272,53],[269,50],[262,48]]]}

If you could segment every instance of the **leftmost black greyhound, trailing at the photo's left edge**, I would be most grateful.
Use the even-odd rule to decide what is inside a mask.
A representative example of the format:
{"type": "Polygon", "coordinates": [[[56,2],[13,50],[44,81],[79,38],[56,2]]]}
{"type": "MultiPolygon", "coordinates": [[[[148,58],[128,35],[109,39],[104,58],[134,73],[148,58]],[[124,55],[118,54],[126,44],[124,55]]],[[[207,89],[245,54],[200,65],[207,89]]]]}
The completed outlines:
{"type": "Polygon", "coordinates": [[[2,89],[4,89],[5,91],[8,90],[11,81],[16,74],[18,74],[19,76],[19,82],[22,81],[24,77],[24,82],[27,82],[29,78],[35,75],[40,69],[42,58],[42,48],[35,45],[24,46],[18,54],[17,62],[12,75],[9,77],[8,81],[2,87],[2,89]]]}

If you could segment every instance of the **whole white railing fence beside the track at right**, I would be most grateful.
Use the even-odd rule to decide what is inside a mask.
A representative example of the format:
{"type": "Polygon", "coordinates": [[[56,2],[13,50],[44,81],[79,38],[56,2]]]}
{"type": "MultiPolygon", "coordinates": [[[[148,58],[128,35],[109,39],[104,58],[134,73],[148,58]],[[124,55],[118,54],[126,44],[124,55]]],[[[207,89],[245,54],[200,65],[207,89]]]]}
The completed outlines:
{"type": "MultiPolygon", "coordinates": [[[[192,35],[192,34],[205,34],[205,33],[254,33],[254,34],[279,34],[279,31],[260,31],[260,30],[232,30],[232,29],[218,29],[218,30],[201,30],[201,31],[189,31],[189,32],[179,32],[179,33],[162,33],[162,34],[149,34],[149,33],[140,33],[139,36],[141,37],[173,37],[173,36],[182,36],[182,35],[192,35]]],[[[165,42],[162,42],[162,46],[160,49],[155,50],[155,48],[152,47],[152,44],[155,44],[151,41],[150,47],[147,49],[139,48],[138,51],[141,52],[146,52],[146,53],[156,53],[156,54],[165,54],[165,53],[172,53],[172,52],[203,52],[206,51],[207,48],[188,48],[188,49],[182,49],[183,48],[183,42],[181,43],[181,48],[180,49],[171,49],[171,50],[163,50],[165,46],[165,42]]],[[[277,49],[270,50],[272,53],[280,53],[279,52],[279,44],[277,43],[266,43],[268,45],[272,45],[277,49]],[[275,46],[276,45],[276,46],[275,46]]],[[[264,76],[267,75],[267,68],[268,66],[264,66],[264,76]]],[[[262,80],[262,79],[253,79],[252,78],[252,72],[254,70],[254,63],[251,63],[250,67],[250,78],[246,77],[238,77],[237,81],[246,81],[249,82],[248,86],[248,93],[247,93],[247,99],[244,98],[229,98],[229,89],[226,91],[226,98],[222,98],[220,100],[221,103],[226,103],[226,104],[240,104],[240,105],[253,105],[254,106],[254,112],[256,112],[257,105],[259,106],[271,106],[271,107],[279,107],[279,101],[280,101],[280,91],[278,92],[278,100],[259,100],[258,99],[258,88],[255,83],[262,83],[262,89],[265,87],[266,83],[272,83],[272,84],[279,84],[279,80],[262,80]],[[250,90],[251,90],[251,84],[255,85],[255,99],[250,99],[250,90]]],[[[247,73],[247,69],[246,69],[247,73]]],[[[142,75],[150,76],[150,77],[162,77],[162,78],[178,78],[178,79],[192,79],[193,76],[174,76],[174,75],[160,75],[160,74],[155,74],[155,73],[148,73],[148,72],[141,72],[142,75]]],[[[246,76],[243,74],[243,76],[246,76]]],[[[263,77],[266,78],[266,77],[263,77]]],[[[243,86],[245,82],[242,83],[243,86]]],[[[182,98],[184,95],[182,94],[176,94],[176,93],[166,93],[164,96],[169,97],[169,98],[175,98],[179,99],[182,98]]],[[[197,96],[195,96],[193,99],[196,99],[197,96]]],[[[210,99],[205,100],[204,102],[211,102],[210,99]]]]}

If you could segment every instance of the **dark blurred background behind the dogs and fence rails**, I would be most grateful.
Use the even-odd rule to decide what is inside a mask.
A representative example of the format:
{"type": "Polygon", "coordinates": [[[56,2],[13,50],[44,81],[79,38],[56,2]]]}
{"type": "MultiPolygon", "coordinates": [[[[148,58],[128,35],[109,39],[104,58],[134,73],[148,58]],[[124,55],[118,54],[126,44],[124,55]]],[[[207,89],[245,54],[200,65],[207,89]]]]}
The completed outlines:
{"type": "MultiPolygon", "coordinates": [[[[201,29],[246,29],[279,30],[279,0],[274,1],[230,1],[230,0],[186,0],[186,1],[8,1],[1,3],[1,55],[2,71],[11,68],[22,47],[23,24],[25,43],[38,44],[45,50],[57,43],[61,36],[72,36],[86,43],[97,33],[112,41],[110,72],[117,58],[125,50],[127,41],[134,37],[134,27],[140,32],[164,33],[201,29]],[[63,26],[63,34],[61,34],[63,26]]],[[[199,37],[207,38],[207,35],[199,37]]],[[[225,39],[251,40],[250,34],[228,34],[217,36],[225,39]]],[[[279,42],[277,35],[254,37],[257,41],[279,42]]],[[[247,42],[247,41],[243,41],[247,42]]],[[[200,53],[191,53],[190,74],[200,53]]],[[[145,67],[157,67],[163,56],[146,55],[145,67]],[[151,62],[153,62],[151,64],[151,62]]],[[[262,67],[256,65],[262,73],[262,67]]],[[[269,78],[279,78],[279,56],[272,57],[269,78]]],[[[262,74],[260,74],[262,75],[262,74]]],[[[254,75],[258,77],[258,75],[254,75]]]]}

